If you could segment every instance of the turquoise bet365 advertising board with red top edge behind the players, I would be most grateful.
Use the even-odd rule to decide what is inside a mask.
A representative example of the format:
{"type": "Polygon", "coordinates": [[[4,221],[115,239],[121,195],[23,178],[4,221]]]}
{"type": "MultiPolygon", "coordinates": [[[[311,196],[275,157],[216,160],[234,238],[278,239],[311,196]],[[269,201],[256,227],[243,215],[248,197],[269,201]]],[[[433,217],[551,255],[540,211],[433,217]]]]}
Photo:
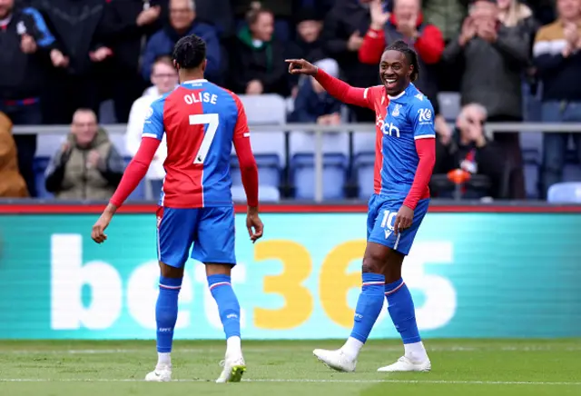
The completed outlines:
{"type": "MultiPolygon", "coordinates": [[[[159,270],[151,204],[0,203],[0,339],[153,339],[159,270]]],[[[364,205],[263,205],[252,244],[237,206],[232,273],[245,339],[344,338],[365,249],[364,205]]],[[[405,260],[426,338],[581,336],[581,206],[433,205],[405,260]],[[547,225],[550,224],[550,231],[547,225]]],[[[200,262],[188,262],[178,339],[222,339],[200,262]]],[[[385,306],[371,338],[398,338],[385,306]]]]}

